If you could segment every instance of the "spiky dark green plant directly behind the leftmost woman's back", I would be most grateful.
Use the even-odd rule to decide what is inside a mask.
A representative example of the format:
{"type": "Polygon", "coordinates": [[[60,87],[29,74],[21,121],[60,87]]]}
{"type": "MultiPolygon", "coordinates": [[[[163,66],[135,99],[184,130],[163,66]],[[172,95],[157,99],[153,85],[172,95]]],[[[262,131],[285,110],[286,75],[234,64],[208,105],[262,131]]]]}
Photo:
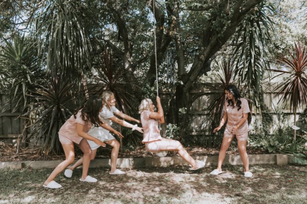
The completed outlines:
{"type": "Polygon", "coordinates": [[[36,102],[28,105],[30,110],[25,116],[33,119],[31,137],[41,142],[41,150],[45,155],[60,150],[58,131],[76,108],[73,103],[74,85],[63,82],[60,77],[49,77],[46,84],[40,85],[30,95],[36,102]]]}

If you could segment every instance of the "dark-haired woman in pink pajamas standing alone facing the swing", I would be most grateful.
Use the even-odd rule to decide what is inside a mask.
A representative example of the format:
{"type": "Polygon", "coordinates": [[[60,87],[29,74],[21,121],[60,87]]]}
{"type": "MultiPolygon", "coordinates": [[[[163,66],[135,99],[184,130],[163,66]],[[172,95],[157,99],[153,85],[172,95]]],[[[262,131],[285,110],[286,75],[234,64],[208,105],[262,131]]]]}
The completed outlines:
{"type": "Polygon", "coordinates": [[[224,105],[224,116],[218,127],[215,127],[213,133],[219,131],[227,121],[224,138],[218,154],[217,168],[210,174],[218,175],[222,173],[222,164],[226,156],[226,151],[229,148],[234,137],[237,139],[238,150],[245,168],[244,177],[252,177],[249,171],[249,160],[246,152],[246,144],[248,138],[249,126],[247,122],[248,113],[250,112],[248,101],[240,96],[236,86],[228,85],[225,89],[226,101],[224,105]]]}

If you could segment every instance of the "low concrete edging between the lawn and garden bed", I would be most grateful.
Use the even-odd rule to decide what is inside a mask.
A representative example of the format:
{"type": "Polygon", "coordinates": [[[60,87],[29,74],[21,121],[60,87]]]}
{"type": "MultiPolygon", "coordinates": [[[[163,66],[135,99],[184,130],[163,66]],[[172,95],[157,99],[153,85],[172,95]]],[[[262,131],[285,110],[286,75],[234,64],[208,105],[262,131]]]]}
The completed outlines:
{"type": "MultiPolygon", "coordinates": [[[[292,158],[288,155],[249,155],[250,164],[278,164],[286,165],[291,163],[292,158]]],[[[202,160],[206,166],[216,165],[218,156],[194,156],[194,159],[202,160]]],[[[1,168],[21,169],[21,168],[55,168],[60,161],[25,161],[25,162],[0,162],[1,168]]],[[[95,159],[91,162],[90,168],[109,167],[110,159],[95,159]]],[[[242,165],[239,155],[226,155],[224,164],[242,165]]],[[[181,157],[154,157],[154,158],[118,158],[118,168],[138,168],[138,167],[158,167],[170,165],[188,165],[181,157]]]]}

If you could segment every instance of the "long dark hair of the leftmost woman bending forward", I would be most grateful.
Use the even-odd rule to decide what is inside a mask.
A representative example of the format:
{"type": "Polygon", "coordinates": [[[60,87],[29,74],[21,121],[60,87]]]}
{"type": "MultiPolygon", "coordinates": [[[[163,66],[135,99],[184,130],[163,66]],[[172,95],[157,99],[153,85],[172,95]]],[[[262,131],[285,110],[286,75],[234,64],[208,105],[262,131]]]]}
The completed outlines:
{"type": "Polygon", "coordinates": [[[76,118],[78,111],[81,110],[81,117],[85,124],[89,125],[92,123],[97,127],[100,126],[99,124],[103,123],[99,119],[100,109],[102,109],[102,98],[98,95],[94,95],[87,99],[84,105],[74,113],[74,117],[76,118]]]}

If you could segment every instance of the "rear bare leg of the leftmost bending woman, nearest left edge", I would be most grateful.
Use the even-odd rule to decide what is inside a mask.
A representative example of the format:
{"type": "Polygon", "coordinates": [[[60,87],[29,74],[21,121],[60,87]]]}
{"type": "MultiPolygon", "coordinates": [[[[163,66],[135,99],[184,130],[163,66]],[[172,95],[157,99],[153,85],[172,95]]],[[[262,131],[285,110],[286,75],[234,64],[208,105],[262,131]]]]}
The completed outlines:
{"type": "Polygon", "coordinates": [[[65,160],[55,167],[48,179],[45,181],[45,183],[43,183],[44,185],[48,185],[51,181],[53,181],[60,172],[62,172],[75,160],[74,144],[62,144],[62,147],[65,153],[65,160]]]}

